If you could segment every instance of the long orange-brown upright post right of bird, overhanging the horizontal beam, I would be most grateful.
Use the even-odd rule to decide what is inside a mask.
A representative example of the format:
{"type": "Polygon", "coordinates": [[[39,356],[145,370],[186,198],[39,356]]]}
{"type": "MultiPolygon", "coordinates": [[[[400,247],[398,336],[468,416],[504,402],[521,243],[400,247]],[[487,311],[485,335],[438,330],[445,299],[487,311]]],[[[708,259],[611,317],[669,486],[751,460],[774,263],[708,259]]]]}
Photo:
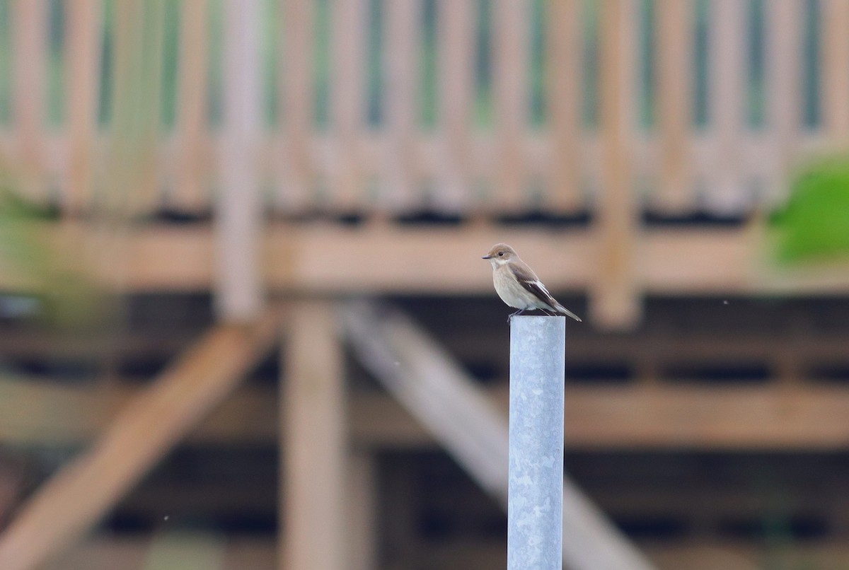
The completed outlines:
{"type": "Polygon", "coordinates": [[[599,271],[593,316],[603,327],[626,327],[639,316],[634,277],[638,240],[631,138],[636,91],[637,7],[633,0],[600,4],[599,125],[604,168],[598,208],[599,271]]]}

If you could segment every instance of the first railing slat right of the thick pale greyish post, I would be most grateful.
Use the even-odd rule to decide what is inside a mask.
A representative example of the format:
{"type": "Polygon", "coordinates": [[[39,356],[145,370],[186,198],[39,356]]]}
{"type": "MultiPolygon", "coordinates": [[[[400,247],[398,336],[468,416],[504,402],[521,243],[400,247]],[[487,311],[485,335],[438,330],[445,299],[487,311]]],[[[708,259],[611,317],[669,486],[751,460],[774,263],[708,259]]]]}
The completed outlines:
{"type": "Polygon", "coordinates": [[[312,53],[314,0],[281,0],[284,57],[280,58],[280,89],[285,156],[275,204],[287,212],[310,205],[312,162],[312,53]]]}

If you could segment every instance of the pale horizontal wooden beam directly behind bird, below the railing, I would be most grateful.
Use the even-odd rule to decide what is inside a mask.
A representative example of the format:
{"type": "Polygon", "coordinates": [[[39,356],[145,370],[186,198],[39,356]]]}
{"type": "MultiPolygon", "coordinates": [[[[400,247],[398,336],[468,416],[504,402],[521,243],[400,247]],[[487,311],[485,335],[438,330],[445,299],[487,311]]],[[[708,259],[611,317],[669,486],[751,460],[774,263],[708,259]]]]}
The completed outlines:
{"type": "MultiPolygon", "coordinates": [[[[90,243],[81,223],[43,227],[46,241],[90,243]]],[[[643,293],[844,294],[849,268],[790,271],[767,263],[756,228],[647,229],[635,251],[635,282],[643,293]]],[[[127,240],[121,284],[131,292],[207,291],[216,278],[211,226],[142,226],[127,240]]],[[[598,244],[584,229],[551,231],[496,226],[422,228],[374,224],[269,226],[263,234],[265,286],[277,293],[490,293],[480,260],[492,243],[508,242],[553,290],[587,290],[598,244]]],[[[91,265],[109,282],[115,268],[91,265]]],[[[0,290],[37,287],[0,260],[0,290]]]]}

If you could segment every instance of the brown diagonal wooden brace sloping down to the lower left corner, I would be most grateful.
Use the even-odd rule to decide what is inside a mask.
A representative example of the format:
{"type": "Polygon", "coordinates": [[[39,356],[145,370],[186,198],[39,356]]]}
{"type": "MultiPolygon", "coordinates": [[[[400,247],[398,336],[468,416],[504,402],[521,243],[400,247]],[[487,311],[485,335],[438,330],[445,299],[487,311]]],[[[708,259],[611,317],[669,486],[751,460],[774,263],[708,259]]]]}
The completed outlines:
{"type": "Polygon", "coordinates": [[[32,570],[104,516],[239,384],[270,348],[276,318],[214,329],[45,483],[0,535],[0,568],[32,570]]]}

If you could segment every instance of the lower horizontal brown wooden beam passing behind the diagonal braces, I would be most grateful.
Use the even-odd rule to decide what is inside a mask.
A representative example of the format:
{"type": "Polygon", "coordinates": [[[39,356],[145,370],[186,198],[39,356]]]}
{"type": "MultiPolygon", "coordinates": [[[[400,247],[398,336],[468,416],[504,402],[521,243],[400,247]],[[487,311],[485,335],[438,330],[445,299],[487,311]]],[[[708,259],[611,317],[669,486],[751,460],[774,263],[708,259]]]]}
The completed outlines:
{"type": "MultiPolygon", "coordinates": [[[[131,388],[102,392],[0,383],[0,443],[85,443],[135,393],[131,388]]],[[[491,388],[490,397],[506,414],[506,389],[491,388]]],[[[278,438],[275,401],[273,388],[241,388],[200,422],[187,443],[273,444],[278,438]]],[[[385,394],[353,394],[348,405],[354,444],[436,447],[430,434],[385,394]]],[[[837,386],[569,386],[565,405],[566,445],[573,450],[849,448],[849,389],[837,386]]]]}

